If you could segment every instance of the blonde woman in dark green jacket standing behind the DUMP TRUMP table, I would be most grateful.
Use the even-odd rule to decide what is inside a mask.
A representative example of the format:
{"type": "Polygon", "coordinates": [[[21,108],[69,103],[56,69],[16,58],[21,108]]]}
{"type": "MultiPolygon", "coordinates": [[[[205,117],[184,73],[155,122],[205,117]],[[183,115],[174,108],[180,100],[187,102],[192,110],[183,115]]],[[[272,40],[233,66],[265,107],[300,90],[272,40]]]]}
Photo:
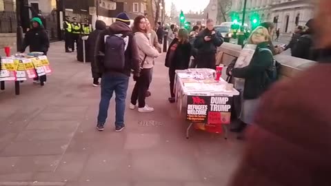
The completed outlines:
{"type": "Polygon", "coordinates": [[[271,83],[269,74],[274,59],[268,44],[269,38],[270,35],[266,28],[257,27],[248,39],[248,43],[257,45],[252,61],[248,66],[233,68],[230,72],[236,78],[245,79],[240,116],[241,121],[245,124],[252,124],[260,96],[271,83]]]}

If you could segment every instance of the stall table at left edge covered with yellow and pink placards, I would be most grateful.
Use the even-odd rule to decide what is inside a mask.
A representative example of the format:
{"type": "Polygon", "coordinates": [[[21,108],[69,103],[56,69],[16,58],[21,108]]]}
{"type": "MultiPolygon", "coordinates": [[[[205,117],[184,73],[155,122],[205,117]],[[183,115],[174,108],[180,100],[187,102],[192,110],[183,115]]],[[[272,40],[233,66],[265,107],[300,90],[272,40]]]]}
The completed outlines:
{"type": "Polygon", "coordinates": [[[15,94],[19,95],[20,82],[50,74],[51,72],[47,56],[39,52],[4,57],[1,59],[0,89],[5,90],[6,81],[14,81],[15,94]]]}

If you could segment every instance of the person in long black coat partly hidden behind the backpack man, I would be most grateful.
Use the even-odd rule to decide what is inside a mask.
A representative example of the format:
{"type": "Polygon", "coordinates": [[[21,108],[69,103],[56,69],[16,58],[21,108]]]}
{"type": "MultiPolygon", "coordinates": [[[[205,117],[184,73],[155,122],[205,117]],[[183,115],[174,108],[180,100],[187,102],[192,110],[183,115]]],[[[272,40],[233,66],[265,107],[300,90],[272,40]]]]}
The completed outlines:
{"type": "Polygon", "coordinates": [[[95,22],[95,28],[96,28],[96,30],[91,32],[90,35],[88,36],[86,50],[88,51],[88,57],[89,57],[88,61],[91,62],[91,72],[92,72],[92,78],[93,78],[92,85],[94,87],[98,87],[99,79],[101,78],[102,74],[100,73],[99,67],[97,65],[97,56],[95,56],[94,50],[96,49],[96,45],[97,45],[97,43],[95,41],[97,41],[101,32],[103,30],[106,30],[106,23],[101,20],[97,20],[95,22]]]}

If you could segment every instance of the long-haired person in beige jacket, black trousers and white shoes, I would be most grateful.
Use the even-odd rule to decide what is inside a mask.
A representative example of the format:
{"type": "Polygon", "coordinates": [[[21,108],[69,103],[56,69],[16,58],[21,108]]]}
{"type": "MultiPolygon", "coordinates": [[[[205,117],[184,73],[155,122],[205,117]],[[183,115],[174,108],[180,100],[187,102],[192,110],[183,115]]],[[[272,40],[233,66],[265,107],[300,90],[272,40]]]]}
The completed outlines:
{"type": "Polygon", "coordinates": [[[150,41],[150,37],[148,37],[146,17],[136,17],[133,24],[134,38],[137,40],[142,69],[139,77],[134,76],[136,84],[132,91],[130,109],[134,110],[138,100],[139,112],[153,112],[154,108],[148,107],[145,99],[146,92],[150,86],[150,71],[154,66],[154,58],[159,56],[159,51],[154,48],[150,41]]]}

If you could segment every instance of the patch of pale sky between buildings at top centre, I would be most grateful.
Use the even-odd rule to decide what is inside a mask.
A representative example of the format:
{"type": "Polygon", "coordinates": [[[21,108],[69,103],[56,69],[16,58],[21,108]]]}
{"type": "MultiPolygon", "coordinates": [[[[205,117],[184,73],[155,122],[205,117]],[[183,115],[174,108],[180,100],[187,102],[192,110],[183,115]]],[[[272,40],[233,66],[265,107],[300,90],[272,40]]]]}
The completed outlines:
{"type": "Polygon", "coordinates": [[[188,12],[190,10],[197,12],[200,10],[204,10],[206,6],[208,6],[210,0],[165,0],[166,11],[170,11],[171,3],[177,7],[177,10],[183,10],[184,12],[188,12]]]}

